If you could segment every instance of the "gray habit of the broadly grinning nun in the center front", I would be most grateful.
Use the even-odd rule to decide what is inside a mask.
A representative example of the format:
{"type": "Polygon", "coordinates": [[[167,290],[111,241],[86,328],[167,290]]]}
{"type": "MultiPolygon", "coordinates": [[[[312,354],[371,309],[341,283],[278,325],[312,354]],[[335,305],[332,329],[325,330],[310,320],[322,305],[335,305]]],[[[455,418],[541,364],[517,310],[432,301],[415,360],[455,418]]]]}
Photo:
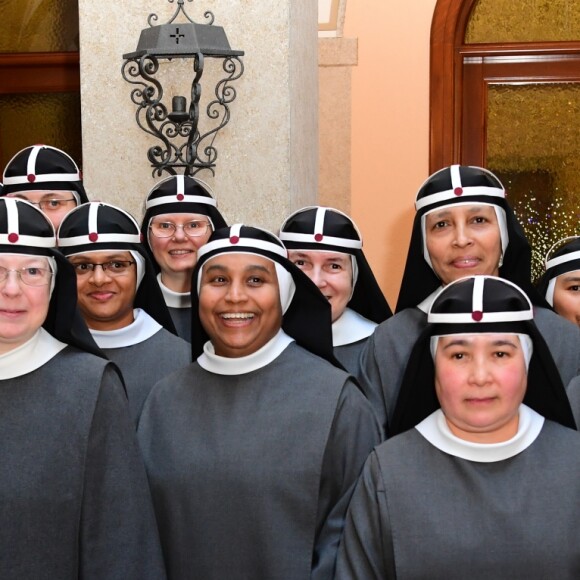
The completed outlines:
{"type": "Polygon", "coordinates": [[[170,578],[331,579],[348,501],[380,440],[349,375],[295,343],[263,368],[197,362],[138,428],[170,578]]]}

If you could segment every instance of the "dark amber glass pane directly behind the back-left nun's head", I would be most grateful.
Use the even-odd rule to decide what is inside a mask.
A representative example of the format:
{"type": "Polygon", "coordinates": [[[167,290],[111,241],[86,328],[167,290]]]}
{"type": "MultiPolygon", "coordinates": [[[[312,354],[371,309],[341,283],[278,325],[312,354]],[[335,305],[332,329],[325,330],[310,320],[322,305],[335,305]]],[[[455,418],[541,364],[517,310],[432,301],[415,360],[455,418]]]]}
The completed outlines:
{"type": "Polygon", "coordinates": [[[82,166],[79,93],[0,95],[0,168],[34,143],[66,151],[82,166]]]}

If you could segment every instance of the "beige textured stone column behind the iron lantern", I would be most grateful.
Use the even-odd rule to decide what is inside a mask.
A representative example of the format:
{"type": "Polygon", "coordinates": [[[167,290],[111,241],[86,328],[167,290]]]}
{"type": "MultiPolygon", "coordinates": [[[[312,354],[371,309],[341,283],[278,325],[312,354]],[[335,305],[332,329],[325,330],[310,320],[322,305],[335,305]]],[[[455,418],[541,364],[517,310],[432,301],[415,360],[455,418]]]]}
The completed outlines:
{"type": "MultiPolygon", "coordinates": [[[[137,219],[158,178],[152,177],[146,157],[154,140],[138,128],[131,85],[121,76],[122,55],[135,50],[150,13],[164,24],[175,9],[176,3],[167,0],[79,0],[87,191],[91,199],[117,204],[137,219]]],[[[213,188],[230,222],[277,230],[290,211],[317,199],[317,5],[312,0],[194,0],[185,3],[185,10],[200,24],[206,22],[206,10],[213,12],[232,48],[245,51],[231,120],[215,142],[215,177],[207,171],[198,177],[213,188]]],[[[191,65],[167,70],[172,89],[184,79],[190,86],[191,65]]],[[[204,95],[213,92],[203,77],[201,84],[204,95]]],[[[166,93],[169,104],[171,96],[166,93]]]]}

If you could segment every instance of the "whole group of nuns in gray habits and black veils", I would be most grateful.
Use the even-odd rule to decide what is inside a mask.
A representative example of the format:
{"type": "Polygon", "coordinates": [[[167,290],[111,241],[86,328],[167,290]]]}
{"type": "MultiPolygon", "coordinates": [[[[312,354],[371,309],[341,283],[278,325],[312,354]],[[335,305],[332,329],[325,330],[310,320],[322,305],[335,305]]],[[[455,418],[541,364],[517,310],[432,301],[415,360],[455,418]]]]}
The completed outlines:
{"type": "Polygon", "coordinates": [[[274,235],[178,175],[139,224],[15,155],[0,577],[580,577],[579,240],[535,287],[488,170],[416,210],[393,314],[336,209],[274,235]]]}

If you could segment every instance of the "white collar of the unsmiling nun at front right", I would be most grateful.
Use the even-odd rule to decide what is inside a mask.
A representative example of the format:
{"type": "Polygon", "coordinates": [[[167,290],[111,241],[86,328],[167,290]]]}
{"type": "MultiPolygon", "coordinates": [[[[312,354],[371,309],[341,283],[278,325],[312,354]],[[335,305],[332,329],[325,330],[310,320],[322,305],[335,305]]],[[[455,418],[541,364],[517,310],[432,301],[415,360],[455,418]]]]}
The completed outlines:
{"type": "Polygon", "coordinates": [[[415,429],[423,435],[433,447],[454,455],[460,459],[478,463],[492,463],[514,457],[525,451],[538,437],[544,417],[526,405],[520,405],[518,432],[501,443],[472,443],[453,435],[441,409],[431,413],[415,429]]]}

